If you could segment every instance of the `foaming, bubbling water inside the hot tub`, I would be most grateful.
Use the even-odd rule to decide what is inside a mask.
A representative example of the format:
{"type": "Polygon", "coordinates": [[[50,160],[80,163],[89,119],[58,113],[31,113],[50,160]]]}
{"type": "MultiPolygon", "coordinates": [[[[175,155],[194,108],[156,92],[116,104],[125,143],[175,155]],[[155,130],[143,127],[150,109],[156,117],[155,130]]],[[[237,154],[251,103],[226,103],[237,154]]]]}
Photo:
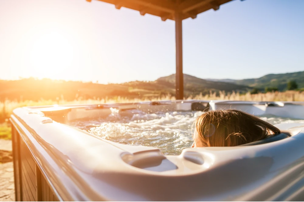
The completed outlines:
{"type": "MultiPolygon", "coordinates": [[[[117,143],[152,146],[159,148],[165,155],[179,155],[192,145],[192,124],[204,112],[167,112],[144,113],[140,110],[129,110],[120,115],[119,110],[112,108],[112,113],[105,119],[81,120],[69,125],[117,143]]],[[[267,115],[260,117],[271,124],[304,123],[304,120],[267,115]]]]}

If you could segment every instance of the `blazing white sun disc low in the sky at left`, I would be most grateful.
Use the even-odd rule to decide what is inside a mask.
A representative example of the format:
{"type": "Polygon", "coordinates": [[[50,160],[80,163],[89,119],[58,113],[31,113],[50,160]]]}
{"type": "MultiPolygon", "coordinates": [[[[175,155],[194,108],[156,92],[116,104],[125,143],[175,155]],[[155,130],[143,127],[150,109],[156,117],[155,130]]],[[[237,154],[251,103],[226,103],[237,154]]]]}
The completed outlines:
{"type": "Polygon", "coordinates": [[[30,50],[33,75],[38,78],[60,79],[73,60],[73,45],[68,36],[48,32],[35,40],[30,50]]]}

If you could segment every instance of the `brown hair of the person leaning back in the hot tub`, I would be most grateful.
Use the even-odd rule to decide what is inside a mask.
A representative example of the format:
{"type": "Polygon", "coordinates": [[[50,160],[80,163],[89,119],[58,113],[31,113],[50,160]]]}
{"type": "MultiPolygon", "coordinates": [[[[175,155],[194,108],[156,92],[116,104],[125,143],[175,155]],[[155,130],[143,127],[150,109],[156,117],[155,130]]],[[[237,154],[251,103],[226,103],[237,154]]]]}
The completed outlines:
{"type": "Polygon", "coordinates": [[[204,146],[238,146],[281,133],[270,123],[234,109],[208,111],[194,125],[204,146]]]}

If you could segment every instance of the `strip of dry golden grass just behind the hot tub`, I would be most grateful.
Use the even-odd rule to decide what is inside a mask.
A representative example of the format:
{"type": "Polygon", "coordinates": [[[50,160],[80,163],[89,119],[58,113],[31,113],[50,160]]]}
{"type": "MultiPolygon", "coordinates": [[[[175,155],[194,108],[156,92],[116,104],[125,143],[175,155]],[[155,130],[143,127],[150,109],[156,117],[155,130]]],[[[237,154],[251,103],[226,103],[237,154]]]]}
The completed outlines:
{"type": "MultiPolygon", "coordinates": [[[[0,121],[8,119],[13,109],[22,106],[42,106],[42,105],[54,105],[54,104],[103,104],[103,103],[133,103],[133,102],[143,102],[143,101],[158,101],[158,100],[174,100],[174,96],[162,96],[162,97],[148,97],[145,96],[141,99],[129,99],[125,97],[116,97],[114,99],[88,99],[88,100],[74,100],[65,101],[64,99],[59,99],[57,101],[53,100],[40,100],[38,102],[34,101],[9,101],[0,102],[0,121]]],[[[185,99],[201,99],[201,100],[242,100],[242,101],[304,101],[304,92],[299,91],[286,91],[286,92],[268,92],[268,93],[258,93],[258,94],[242,94],[240,93],[225,93],[220,92],[219,96],[215,92],[210,92],[209,94],[203,96],[202,94],[188,97],[185,99]]]]}

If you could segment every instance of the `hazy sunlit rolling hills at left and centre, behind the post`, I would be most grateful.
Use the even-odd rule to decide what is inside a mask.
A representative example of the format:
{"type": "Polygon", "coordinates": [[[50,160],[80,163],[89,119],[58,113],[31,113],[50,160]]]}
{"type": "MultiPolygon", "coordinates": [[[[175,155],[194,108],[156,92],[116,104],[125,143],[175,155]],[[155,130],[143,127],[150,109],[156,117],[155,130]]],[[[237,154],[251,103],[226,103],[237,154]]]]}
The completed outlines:
{"type": "MultiPolygon", "coordinates": [[[[184,74],[184,95],[195,96],[209,91],[224,90],[226,92],[247,92],[250,87],[225,82],[207,81],[195,76],[184,74]]],[[[58,81],[51,79],[21,79],[0,80],[0,101],[33,100],[40,99],[102,99],[122,96],[128,98],[158,97],[162,95],[175,95],[175,74],[161,77],[155,81],[133,81],[121,84],[98,84],[92,82],[58,81]]]]}

